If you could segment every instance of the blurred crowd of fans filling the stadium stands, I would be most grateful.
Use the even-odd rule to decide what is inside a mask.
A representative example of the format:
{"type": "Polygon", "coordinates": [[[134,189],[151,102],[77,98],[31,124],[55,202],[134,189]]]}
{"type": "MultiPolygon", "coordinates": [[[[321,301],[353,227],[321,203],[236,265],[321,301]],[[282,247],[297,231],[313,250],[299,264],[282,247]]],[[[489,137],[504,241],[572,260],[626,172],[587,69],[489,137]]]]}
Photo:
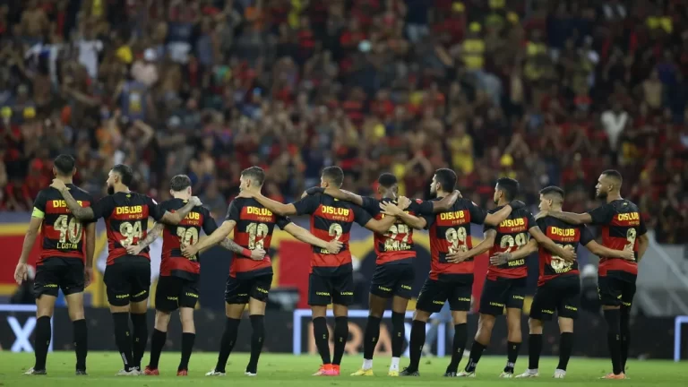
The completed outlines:
{"type": "MultiPolygon", "coordinates": [[[[26,211],[50,159],[101,194],[133,167],[171,176],[223,217],[239,173],[297,198],[339,165],[409,197],[435,168],[486,207],[561,185],[593,206],[617,168],[660,242],[688,241],[688,5],[681,0],[5,0],[0,2],[2,210],[26,211]]],[[[537,211],[536,209],[534,209],[537,211]]]]}

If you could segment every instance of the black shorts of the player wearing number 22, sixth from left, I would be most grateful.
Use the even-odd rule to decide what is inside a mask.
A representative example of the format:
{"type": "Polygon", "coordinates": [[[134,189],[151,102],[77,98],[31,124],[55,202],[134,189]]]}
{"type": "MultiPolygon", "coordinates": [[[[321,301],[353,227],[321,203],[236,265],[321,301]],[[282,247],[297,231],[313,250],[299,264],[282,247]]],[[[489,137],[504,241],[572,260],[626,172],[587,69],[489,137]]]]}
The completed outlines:
{"type": "Polygon", "coordinates": [[[416,269],[411,262],[378,265],[370,281],[370,294],[383,298],[398,296],[410,299],[413,297],[414,280],[416,269]]]}

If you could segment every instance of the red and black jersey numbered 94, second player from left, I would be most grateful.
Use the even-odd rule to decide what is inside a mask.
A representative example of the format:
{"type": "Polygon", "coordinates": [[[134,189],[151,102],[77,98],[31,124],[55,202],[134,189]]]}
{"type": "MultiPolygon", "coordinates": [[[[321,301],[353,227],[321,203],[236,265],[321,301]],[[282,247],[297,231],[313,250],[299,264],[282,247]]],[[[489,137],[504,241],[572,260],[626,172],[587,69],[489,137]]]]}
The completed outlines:
{"type": "MultiPolygon", "coordinates": [[[[107,231],[107,264],[127,255],[126,246],[136,245],[148,235],[148,217],[156,221],[165,215],[157,202],[141,193],[119,192],[107,195],[93,204],[95,219],[105,219],[107,231]]],[[[139,253],[150,260],[149,248],[139,253]]]]}

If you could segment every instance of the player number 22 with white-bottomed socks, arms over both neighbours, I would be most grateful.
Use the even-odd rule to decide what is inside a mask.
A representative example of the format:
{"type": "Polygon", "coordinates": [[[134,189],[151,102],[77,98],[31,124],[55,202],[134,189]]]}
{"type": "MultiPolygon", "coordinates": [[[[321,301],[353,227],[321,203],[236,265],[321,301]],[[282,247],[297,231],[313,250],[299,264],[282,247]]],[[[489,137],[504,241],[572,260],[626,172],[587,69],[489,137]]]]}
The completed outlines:
{"type": "MultiPolygon", "coordinates": [[[[387,202],[397,204],[399,199],[399,184],[397,177],[389,173],[380,175],[377,179],[378,193],[382,200],[371,197],[359,196],[356,193],[342,191],[337,187],[311,188],[306,193],[325,193],[335,199],[353,202],[363,207],[374,219],[383,219],[384,214],[380,210],[380,203],[387,202]]],[[[433,211],[448,210],[459,192],[455,191],[447,195],[442,201],[402,202],[402,207],[409,208],[409,217],[417,221],[417,214],[432,214],[433,211]]],[[[408,201],[408,199],[404,198],[408,201]]],[[[402,212],[402,210],[400,210],[402,212]]],[[[413,249],[413,228],[398,220],[384,234],[374,233],[374,248],[377,254],[375,272],[370,284],[370,314],[366,324],[366,333],[363,342],[363,366],[352,376],[373,376],[373,354],[375,345],[380,337],[380,323],[383,318],[387,301],[391,301],[391,365],[388,375],[399,376],[399,360],[403,352],[405,326],[404,315],[409,299],[413,296],[413,281],[416,278],[413,259],[416,251],[413,249]]]]}

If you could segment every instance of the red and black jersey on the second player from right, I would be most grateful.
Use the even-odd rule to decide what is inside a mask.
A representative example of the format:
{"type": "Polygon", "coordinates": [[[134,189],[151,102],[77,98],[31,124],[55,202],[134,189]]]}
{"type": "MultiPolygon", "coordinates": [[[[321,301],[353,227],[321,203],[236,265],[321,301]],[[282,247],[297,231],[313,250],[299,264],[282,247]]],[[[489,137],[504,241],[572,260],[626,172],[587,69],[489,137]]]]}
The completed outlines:
{"type": "MultiPolygon", "coordinates": [[[[595,239],[585,225],[575,226],[552,217],[538,219],[537,223],[540,230],[548,238],[552,239],[555,244],[561,247],[570,245],[573,247],[573,251],[578,249],[579,244],[588,245],[595,239]]],[[[542,286],[545,282],[554,280],[562,275],[579,274],[578,260],[566,262],[561,257],[552,255],[552,252],[543,246],[540,246],[538,249],[538,257],[538,286],[542,286]]]]}

